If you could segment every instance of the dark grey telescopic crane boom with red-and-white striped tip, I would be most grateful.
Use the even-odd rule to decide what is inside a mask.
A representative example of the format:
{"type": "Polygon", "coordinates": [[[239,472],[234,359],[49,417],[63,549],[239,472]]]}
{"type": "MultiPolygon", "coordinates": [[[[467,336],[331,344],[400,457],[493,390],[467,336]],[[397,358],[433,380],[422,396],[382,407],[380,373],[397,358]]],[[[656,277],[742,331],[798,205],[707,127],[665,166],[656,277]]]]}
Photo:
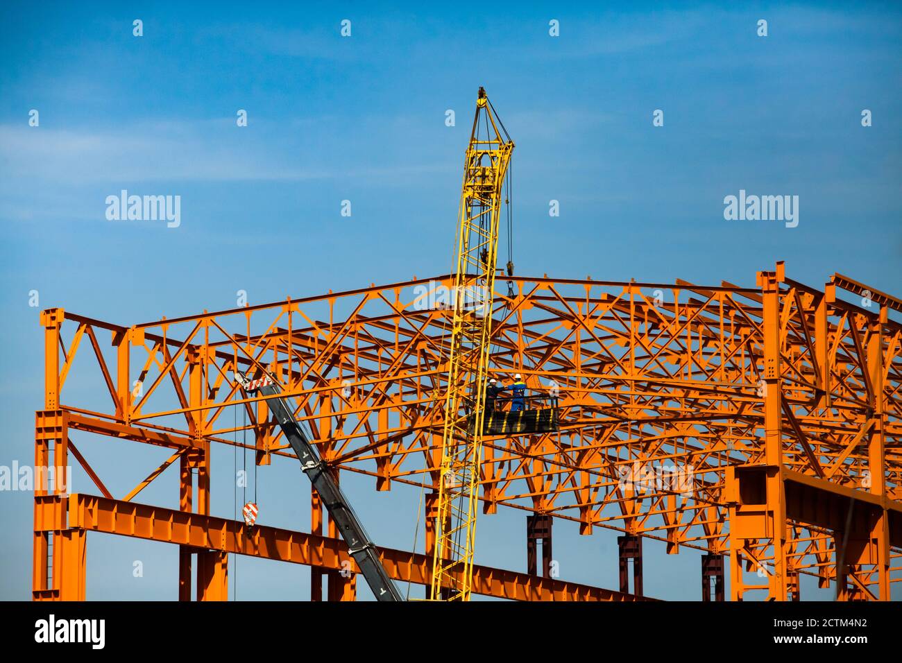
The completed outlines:
{"type": "MultiPolygon", "coordinates": [[[[235,378],[241,388],[248,393],[258,392],[263,396],[274,396],[281,393],[279,386],[268,376],[250,380],[244,374],[236,371],[235,378]]],[[[332,516],[332,520],[335,520],[342,539],[345,539],[348,552],[360,567],[360,572],[366,579],[366,584],[370,585],[370,589],[373,590],[376,600],[403,601],[404,598],[400,595],[398,588],[385,573],[385,567],[382,566],[379,552],[372,539],[367,535],[360,520],[357,519],[357,514],[351,508],[345,493],[342,493],[341,488],[338,487],[335,476],[319,457],[317,447],[310,443],[300,428],[289,404],[282,396],[267,399],[267,404],[272,410],[272,415],[279,422],[285,438],[294,449],[294,453],[298,455],[300,468],[304,474],[308,475],[310,483],[313,484],[323,503],[326,504],[329,515],[332,516]]]]}

